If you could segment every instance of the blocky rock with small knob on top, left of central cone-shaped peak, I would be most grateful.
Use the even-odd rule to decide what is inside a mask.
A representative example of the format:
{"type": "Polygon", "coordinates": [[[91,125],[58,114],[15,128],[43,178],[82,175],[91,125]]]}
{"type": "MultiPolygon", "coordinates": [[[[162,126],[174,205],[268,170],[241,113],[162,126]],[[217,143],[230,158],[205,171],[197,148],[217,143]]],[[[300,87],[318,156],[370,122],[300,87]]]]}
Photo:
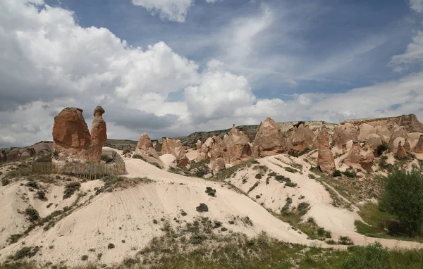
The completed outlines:
{"type": "MultiPolygon", "coordinates": [[[[220,137],[219,137],[220,138],[220,137]]],[[[235,128],[223,137],[223,158],[225,163],[238,164],[251,158],[250,139],[247,134],[235,128]]]]}

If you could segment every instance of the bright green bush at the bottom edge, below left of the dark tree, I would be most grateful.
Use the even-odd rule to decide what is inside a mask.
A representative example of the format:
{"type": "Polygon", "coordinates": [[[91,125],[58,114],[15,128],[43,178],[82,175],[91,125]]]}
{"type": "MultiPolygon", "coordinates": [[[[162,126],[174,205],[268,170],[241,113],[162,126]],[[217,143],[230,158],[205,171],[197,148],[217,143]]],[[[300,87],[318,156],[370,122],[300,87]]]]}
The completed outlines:
{"type": "Polygon", "coordinates": [[[342,263],[342,269],[385,269],[391,268],[389,251],[379,242],[368,246],[353,246],[349,249],[353,254],[342,263]]]}

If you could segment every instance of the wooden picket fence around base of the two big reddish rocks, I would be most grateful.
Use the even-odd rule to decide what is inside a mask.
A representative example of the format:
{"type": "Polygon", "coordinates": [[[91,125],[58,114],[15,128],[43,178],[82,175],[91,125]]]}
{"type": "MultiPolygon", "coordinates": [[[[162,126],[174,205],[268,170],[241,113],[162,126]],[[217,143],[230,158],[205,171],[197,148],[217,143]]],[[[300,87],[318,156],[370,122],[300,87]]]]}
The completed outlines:
{"type": "Polygon", "coordinates": [[[125,175],[128,173],[123,158],[116,151],[103,151],[102,154],[113,158],[113,161],[110,163],[34,162],[31,164],[31,170],[32,173],[74,175],[90,180],[105,175],[125,175]]]}

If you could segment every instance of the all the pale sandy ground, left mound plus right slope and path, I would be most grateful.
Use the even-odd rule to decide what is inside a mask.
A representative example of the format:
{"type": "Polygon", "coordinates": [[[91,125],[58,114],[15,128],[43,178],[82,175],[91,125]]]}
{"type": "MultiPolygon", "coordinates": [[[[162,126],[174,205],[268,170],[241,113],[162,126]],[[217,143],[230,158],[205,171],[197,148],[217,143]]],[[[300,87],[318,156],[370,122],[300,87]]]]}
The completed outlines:
{"type": "MultiPolygon", "coordinates": [[[[422,244],[414,242],[374,239],[357,234],[354,220],[360,217],[357,213],[331,206],[331,198],[324,187],[319,182],[307,177],[309,168],[307,163],[295,159],[295,161],[302,162],[304,170],[302,175],[293,174],[275,165],[274,163],[278,161],[275,157],[262,158],[259,162],[276,173],[290,177],[293,182],[298,184],[298,187],[283,189],[283,185],[278,182],[266,185],[266,177],[264,177],[263,182],[250,192],[253,199],[255,199],[255,195],[262,194],[264,206],[275,210],[280,209],[285,204],[287,195],[295,194],[294,197],[304,195],[305,199],[302,201],[311,204],[310,211],[305,218],[312,216],[321,227],[331,230],[335,239],[342,234],[350,236],[355,244],[359,245],[379,241],[390,247],[422,247],[422,244]]],[[[288,157],[281,155],[278,158],[286,160],[288,157]]],[[[27,237],[20,239],[18,243],[11,245],[4,243],[6,236],[3,234],[22,232],[23,223],[28,224],[23,215],[15,213],[17,208],[23,210],[27,206],[25,201],[20,201],[18,198],[21,196],[21,192],[27,192],[27,190],[18,183],[0,187],[0,222],[5,227],[4,232],[1,232],[3,237],[0,237],[1,245],[5,246],[0,250],[0,261],[4,261],[6,256],[14,254],[22,248],[23,242],[25,242],[25,246],[43,246],[34,258],[44,263],[49,261],[52,263],[63,262],[67,265],[84,265],[90,261],[97,261],[99,253],[103,254],[99,263],[119,263],[123,261],[123,258],[135,255],[149,243],[152,237],[163,234],[160,230],[161,218],[170,220],[171,224],[176,226],[192,222],[193,218],[197,216],[207,216],[211,220],[219,220],[228,230],[243,232],[249,236],[266,231],[271,237],[285,242],[327,246],[320,241],[311,241],[305,234],[294,231],[288,223],[278,220],[263,206],[260,206],[261,199],[258,199],[256,203],[249,197],[235,192],[228,184],[168,173],[140,159],[125,158],[125,163],[128,170],[127,177],[149,177],[155,182],[139,184],[130,189],[116,190],[97,196],[94,195],[94,188],[102,182],[99,180],[85,182],[82,184],[82,190],[87,193],[84,196],[85,199],[92,196],[90,203],[60,220],[50,230],[44,231],[42,228],[37,228],[27,237]],[[216,197],[207,196],[206,187],[216,189],[216,197]],[[196,206],[199,206],[200,203],[207,204],[209,212],[198,213],[195,211],[196,206]],[[180,215],[180,210],[185,211],[188,215],[180,215]],[[245,216],[252,220],[253,226],[240,221],[240,218],[245,216]],[[235,225],[229,225],[228,220],[233,220],[234,217],[237,219],[235,225]],[[179,224],[173,218],[179,220],[179,224]],[[154,224],[154,219],[159,220],[159,224],[154,224]],[[115,244],[116,247],[107,249],[109,243],[115,244]],[[49,246],[52,248],[50,249],[49,246]],[[89,249],[95,251],[91,252],[89,249]],[[81,261],[82,255],[88,255],[88,261],[81,261]]],[[[253,178],[255,173],[249,173],[248,176],[253,178]]],[[[241,173],[239,176],[242,176],[241,173]]],[[[255,181],[250,179],[248,182],[254,184],[255,181]]],[[[244,190],[250,188],[240,187],[244,190]]],[[[71,203],[75,199],[73,196],[68,201],[61,201],[62,194],[63,186],[51,187],[48,194],[49,201],[34,201],[30,197],[26,203],[35,206],[42,215],[47,215],[51,209],[47,210],[46,206],[51,201],[58,204],[58,208],[63,208],[65,204],[71,203]]],[[[298,199],[293,200],[298,203],[298,199]]],[[[221,231],[214,230],[214,232],[221,231]]]]}

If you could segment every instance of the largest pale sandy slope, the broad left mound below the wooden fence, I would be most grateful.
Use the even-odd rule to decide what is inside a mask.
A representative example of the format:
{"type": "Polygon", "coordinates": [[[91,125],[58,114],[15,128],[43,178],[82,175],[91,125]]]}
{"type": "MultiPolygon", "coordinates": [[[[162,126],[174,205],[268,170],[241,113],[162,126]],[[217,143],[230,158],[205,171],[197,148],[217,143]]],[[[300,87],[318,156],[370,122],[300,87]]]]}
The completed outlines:
{"type": "MultiPolygon", "coordinates": [[[[123,258],[135,255],[152,237],[163,234],[160,230],[161,218],[171,220],[172,225],[178,225],[173,221],[173,218],[177,218],[180,225],[184,225],[199,215],[219,220],[233,232],[255,236],[266,231],[271,237],[286,242],[314,244],[305,234],[290,229],[290,225],[274,218],[262,206],[229,189],[226,184],[168,173],[140,159],[125,159],[125,163],[128,177],[149,177],[156,182],[94,196],[89,204],[63,218],[50,230],[37,228],[18,243],[6,245],[0,250],[0,260],[4,261],[6,256],[21,249],[25,242],[25,246],[43,246],[34,257],[41,262],[83,265],[87,262],[81,261],[82,255],[88,255],[88,261],[96,261],[97,254],[102,253],[100,263],[119,263],[123,258]],[[216,197],[208,196],[205,193],[206,187],[216,189],[216,197]],[[207,204],[209,212],[195,211],[200,203],[207,204]],[[181,209],[188,215],[180,215],[181,209]],[[246,225],[238,218],[235,225],[229,225],[228,220],[237,216],[248,216],[254,225],[246,225]],[[154,224],[154,219],[159,220],[159,224],[154,224]],[[115,244],[116,247],[107,249],[109,243],[115,244]],[[90,252],[89,249],[95,249],[95,252],[90,252]]],[[[15,192],[17,184],[11,184],[7,188],[1,187],[0,192],[5,192],[4,197],[9,199],[8,194],[15,192]]],[[[83,183],[82,189],[89,197],[94,194],[94,187],[98,185],[99,180],[94,180],[83,183]]],[[[4,204],[4,201],[0,201],[0,204],[4,204]]],[[[43,206],[37,208],[42,210],[43,206]]],[[[19,219],[25,221],[22,215],[11,215],[8,212],[13,209],[13,206],[8,206],[1,212],[4,213],[3,216],[11,216],[8,226],[19,219]]],[[[2,218],[5,217],[0,220],[3,220],[2,218]]],[[[10,229],[7,234],[23,230],[15,232],[10,229]]]]}

